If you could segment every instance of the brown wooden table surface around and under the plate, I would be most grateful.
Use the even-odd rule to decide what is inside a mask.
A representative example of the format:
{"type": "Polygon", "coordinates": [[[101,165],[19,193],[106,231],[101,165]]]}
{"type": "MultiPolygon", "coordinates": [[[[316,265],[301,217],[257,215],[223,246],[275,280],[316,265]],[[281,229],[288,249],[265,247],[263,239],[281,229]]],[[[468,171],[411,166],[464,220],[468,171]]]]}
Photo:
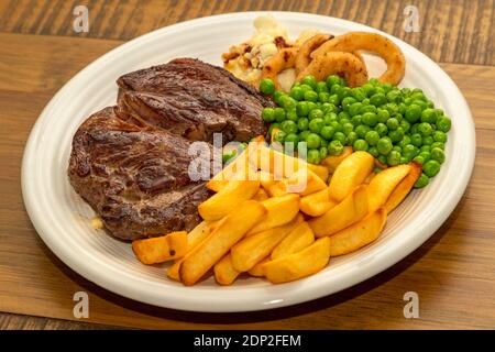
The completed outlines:
{"type": "MultiPolygon", "coordinates": [[[[480,1],[0,1],[0,328],[98,329],[474,329],[495,328],[494,0],[480,1]],[[73,31],[73,9],[89,9],[89,32],[73,31]],[[417,6],[419,33],[404,31],[417,6]],[[43,244],[25,212],[21,157],[52,96],[98,56],[176,22],[234,11],[288,10],[366,23],[429,55],[465,95],[477,155],[471,184],[449,220],[420,249],[339,294],[252,314],[193,314],[135,302],[80,277],[43,244]],[[90,316],[73,316],[73,295],[89,293],[90,316]],[[403,315],[419,295],[419,319],[403,315]]],[[[460,165],[462,167],[462,165],[460,165]]]]}

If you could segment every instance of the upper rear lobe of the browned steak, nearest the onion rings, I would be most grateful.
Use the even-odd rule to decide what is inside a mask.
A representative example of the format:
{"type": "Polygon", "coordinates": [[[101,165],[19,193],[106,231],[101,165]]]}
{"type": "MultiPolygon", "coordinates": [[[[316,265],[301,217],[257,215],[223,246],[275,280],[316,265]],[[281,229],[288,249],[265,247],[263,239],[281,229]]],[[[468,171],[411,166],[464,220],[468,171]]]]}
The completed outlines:
{"type": "Polygon", "coordinates": [[[127,74],[117,81],[119,106],[147,123],[189,140],[248,142],[266,133],[263,107],[273,102],[223,68],[193,58],[127,74]]]}

